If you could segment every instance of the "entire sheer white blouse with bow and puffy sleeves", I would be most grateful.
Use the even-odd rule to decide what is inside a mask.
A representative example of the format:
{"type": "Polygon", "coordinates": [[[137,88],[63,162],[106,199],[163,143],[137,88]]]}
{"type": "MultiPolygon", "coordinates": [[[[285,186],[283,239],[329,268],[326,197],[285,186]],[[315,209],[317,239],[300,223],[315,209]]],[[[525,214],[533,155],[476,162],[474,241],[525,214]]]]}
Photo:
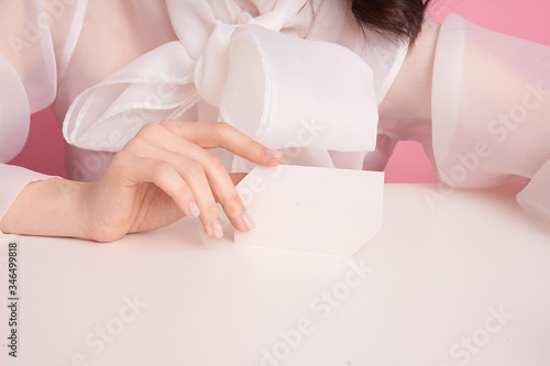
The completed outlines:
{"type": "MultiPolygon", "coordinates": [[[[395,141],[416,138],[451,186],[530,179],[518,201],[550,220],[550,47],[449,15],[432,121],[410,129],[378,118],[408,45],[363,33],[342,0],[2,1],[0,20],[0,163],[48,106],[78,180],[164,119],[223,120],[286,163],[327,167],[381,167],[395,141]]],[[[0,177],[0,218],[47,178],[7,164],[0,177]]]]}

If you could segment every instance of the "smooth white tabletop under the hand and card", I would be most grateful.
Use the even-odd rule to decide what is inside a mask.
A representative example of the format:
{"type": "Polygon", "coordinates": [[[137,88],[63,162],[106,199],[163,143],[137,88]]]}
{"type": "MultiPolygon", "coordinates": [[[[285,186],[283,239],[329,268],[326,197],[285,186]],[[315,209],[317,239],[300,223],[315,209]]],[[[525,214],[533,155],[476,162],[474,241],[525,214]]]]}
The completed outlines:
{"type": "Polygon", "coordinates": [[[0,364],[550,365],[550,225],[514,188],[428,204],[437,190],[386,185],[352,258],[208,240],[194,219],[110,244],[13,237],[18,358],[2,306],[0,364]]]}

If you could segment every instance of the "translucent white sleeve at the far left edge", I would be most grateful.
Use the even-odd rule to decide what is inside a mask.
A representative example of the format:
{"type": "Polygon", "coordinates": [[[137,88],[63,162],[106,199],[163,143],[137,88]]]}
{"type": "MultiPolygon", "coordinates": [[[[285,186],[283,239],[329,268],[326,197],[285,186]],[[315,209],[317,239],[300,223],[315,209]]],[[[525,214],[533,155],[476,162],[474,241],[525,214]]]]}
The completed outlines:
{"type": "Polygon", "coordinates": [[[37,0],[0,2],[0,219],[30,181],[47,178],[7,163],[25,144],[30,115],[55,99],[54,10],[37,0]]]}

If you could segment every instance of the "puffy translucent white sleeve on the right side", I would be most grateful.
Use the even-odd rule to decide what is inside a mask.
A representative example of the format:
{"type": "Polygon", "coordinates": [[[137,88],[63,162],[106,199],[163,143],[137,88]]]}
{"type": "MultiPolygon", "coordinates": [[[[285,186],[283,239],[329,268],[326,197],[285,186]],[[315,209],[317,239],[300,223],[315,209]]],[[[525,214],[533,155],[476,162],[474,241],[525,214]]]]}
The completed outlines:
{"type": "Polygon", "coordinates": [[[455,187],[530,179],[521,207],[550,220],[550,47],[449,15],[432,89],[433,153],[455,187]]]}

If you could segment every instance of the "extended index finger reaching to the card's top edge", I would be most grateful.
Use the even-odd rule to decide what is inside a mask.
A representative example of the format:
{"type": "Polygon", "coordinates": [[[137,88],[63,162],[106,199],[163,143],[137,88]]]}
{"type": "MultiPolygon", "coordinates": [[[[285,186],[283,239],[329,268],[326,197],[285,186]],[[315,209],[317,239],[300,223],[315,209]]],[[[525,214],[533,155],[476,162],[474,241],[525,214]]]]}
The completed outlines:
{"type": "Polygon", "coordinates": [[[166,120],[162,125],[202,148],[222,147],[255,164],[276,166],[283,157],[283,153],[265,147],[226,122],[166,120]]]}

